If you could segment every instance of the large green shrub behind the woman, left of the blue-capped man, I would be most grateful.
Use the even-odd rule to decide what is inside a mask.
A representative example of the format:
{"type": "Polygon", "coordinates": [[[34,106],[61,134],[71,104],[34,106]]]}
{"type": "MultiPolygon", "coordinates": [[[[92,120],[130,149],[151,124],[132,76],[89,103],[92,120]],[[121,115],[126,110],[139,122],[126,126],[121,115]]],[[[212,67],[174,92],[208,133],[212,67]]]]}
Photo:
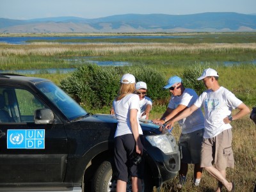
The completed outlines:
{"type": "Polygon", "coordinates": [[[148,86],[148,97],[161,100],[168,97],[163,91],[166,79],[153,68],[138,67],[100,67],[84,65],[77,68],[71,76],[60,82],[60,87],[82,106],[88,109],[110,107],[118,94],[120,79],[123,74],[130,73],[136,82],[144,81],[148,86]]]}

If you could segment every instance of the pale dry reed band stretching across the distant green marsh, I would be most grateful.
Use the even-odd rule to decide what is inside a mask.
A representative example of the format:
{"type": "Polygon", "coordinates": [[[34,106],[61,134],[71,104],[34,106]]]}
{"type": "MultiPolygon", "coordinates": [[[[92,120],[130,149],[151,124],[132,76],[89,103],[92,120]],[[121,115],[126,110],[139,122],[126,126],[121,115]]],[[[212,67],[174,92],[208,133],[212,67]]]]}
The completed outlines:
{"type": "Polygon", "coordinates": [[[239,49],[256,50],[256,44],[172,44],[172,43],[124,43],[124,44],[58,44],[58,43],[33,43],[28,45],[9,45],[0,44],[0,56],[9,55],[45,55],[52,56],[65,52],[90,52],[90,56],[117,54],[125,52],[159,52],[184,53],[189,54],[198,52],[229,52],[239,49]]]}

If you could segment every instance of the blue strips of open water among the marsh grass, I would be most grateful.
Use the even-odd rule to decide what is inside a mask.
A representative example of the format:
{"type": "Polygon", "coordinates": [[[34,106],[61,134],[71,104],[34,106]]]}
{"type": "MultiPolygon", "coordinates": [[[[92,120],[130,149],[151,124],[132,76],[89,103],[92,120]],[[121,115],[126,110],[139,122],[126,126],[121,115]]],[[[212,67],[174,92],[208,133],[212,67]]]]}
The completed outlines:
{"type": "MultiPolygon", "coordinates": [[[[191,38],[193,36],[169,36],[169,35],[156,35],[156,36],[143,36],[143,35],[100,35],[100,36],[0,36],[0,43],[7,44],[30,44],[33,40],[45,40],[45,41],[54,41],[54,40],[63,40],[62,44],[68,44],[65,40],[79,40],[79,39],[108,39],[108,38],[191,38]]],[[[80,44],[72,42],[72,44],[80,44]]],[[[97,61],[97,58],[92,57],[72,57],[65,59],[68,63],[76,63],[79,65],[86,65],[89,63],[94,63],[100,66],[124,66],[132,65],[129,61],[97,61]]],[[[239,65],[239,61],[223,61],[223,65],[239,65]]],[[[253,64],[256,65],[256,60],[243,62],[243,64],[253,64]]],[[[1,68],[0,68],[1,69],[1,68]]],[[[16,74],[67,74],[73,72],[76,68],[45,68],[45,69],[32,69],[32,70],[0,70],[0,73],[16,73],[16,74]]]]}

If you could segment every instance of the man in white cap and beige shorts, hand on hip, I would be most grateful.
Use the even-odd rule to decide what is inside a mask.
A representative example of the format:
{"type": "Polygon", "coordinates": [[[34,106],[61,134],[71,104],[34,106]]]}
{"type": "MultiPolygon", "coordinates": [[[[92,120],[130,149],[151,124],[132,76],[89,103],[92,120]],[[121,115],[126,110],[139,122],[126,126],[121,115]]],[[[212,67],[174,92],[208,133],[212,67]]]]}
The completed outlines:
{"type": "Polygon", "coordinates": [[[218,83],[216,70],[207,68],[197,80],[204,81],[207,90],[188,109],[175,116],[166,126],[191,115],[193,111],[204,107],[205,132],[201,151],[201,167],[218,180],[216,191],[225,186],[228,191],[235,190],[234,182],[226,180],[226,168],[234,168],[232,152],[232,126],[230,123],[250,113],[250,109],[237,97],[218,83]],[[239,109],[232,115],[232,109],[239,109]],[[215,165],[215,166],[213,166],[215,165]]]}

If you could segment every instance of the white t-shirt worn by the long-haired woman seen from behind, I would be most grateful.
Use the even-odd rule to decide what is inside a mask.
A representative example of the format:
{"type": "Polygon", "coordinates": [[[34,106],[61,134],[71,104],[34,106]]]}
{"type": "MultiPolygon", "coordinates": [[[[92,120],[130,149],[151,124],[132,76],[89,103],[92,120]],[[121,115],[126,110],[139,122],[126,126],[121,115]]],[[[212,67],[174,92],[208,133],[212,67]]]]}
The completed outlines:
{"type": "Polygon", "coordinates": [[[116,119],[117,119],[117,127],[115,132],[116,136],[121,136],[124,134],[132,134],[131,122],[130,122],[130,109],[137,109],[137,121],[138,121],[138,129],[139,134],[143,134],[142,129],[139,123],[140,117],[140,97],[136,94],[126,95],[121,100],[113,101],[113,108],[115,111],[116,119]]]}

